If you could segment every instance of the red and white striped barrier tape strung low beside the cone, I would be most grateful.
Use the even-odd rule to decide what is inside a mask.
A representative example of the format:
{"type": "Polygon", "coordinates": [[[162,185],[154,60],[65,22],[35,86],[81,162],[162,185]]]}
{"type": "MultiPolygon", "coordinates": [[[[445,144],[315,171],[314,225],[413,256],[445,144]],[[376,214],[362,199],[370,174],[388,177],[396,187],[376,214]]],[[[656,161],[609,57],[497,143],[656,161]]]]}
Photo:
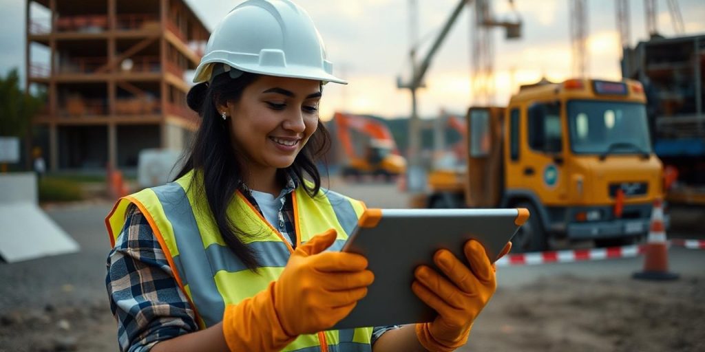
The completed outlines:
{"type": "MultiPolygon", "coordinates": [[[[705,241],[698,239],[672,239],[669,242],[672,246],[680,246],[687,249],[705,249],[705,241]]],[[[506,267],[547,263],[572,263],[585,260],[634,258],[643,253],[644,245],[534,253],[510,253],[497,260],[496,265],[498,267],[506,267]]]]}

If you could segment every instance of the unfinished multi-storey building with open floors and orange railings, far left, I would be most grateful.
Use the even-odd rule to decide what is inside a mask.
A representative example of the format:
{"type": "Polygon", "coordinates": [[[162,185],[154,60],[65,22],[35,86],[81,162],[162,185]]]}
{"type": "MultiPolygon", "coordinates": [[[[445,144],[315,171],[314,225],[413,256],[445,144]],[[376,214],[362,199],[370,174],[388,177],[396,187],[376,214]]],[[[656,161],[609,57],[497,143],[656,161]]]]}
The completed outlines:
{"type": "Polygon", "coordinates": [[[130,170],[142,149],[183,149],[198,118],[184,73],[210,35],[184,0],[27,0],[27,87],[50,170],[130,170]]]}

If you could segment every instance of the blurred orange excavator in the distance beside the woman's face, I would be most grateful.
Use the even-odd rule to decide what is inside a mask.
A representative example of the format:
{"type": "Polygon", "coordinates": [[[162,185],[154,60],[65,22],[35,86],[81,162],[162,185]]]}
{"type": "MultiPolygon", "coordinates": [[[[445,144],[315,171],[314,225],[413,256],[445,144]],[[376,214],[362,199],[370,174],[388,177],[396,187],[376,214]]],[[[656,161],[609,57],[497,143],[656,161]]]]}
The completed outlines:
{"type": "Polygon", "coordinates": [[[363,115],[335,113],[333,135],[337,137],[338,158],[343,160],[343,177],[382,176],[391,181],[406,170],[389,128],[379,120],[363,115]]]}

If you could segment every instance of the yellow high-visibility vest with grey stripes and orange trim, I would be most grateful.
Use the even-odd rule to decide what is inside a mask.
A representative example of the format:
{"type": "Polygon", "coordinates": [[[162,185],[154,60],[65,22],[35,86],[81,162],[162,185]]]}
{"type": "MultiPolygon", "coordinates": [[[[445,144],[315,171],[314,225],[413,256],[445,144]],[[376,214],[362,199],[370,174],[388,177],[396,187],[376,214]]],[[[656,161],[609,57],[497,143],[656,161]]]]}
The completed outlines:
{"type": "MultiPolygon", "coordinates": [[[[257,234],[240,238],[259,260],[257,273],[247,269],[223,241],[205,197],[191,184],[193,175],[192,171],[175,182],[125,196],[106,218],[106,226],[115,246],[128,205],[140,209],[204,329],[223,319],[227,304],[254,296],[276,280],[293,249],[238,191],[228,214],[238,229],[257,234]]],[[[312,198],[302,186],[293,191],[292,200],[297,246],[334,228],[338,238],[331,250],[340,250],[364,211],[361,201],[324,190],[312,198]]],[[[372,351],[371,339],[371,327],[329,330],[301,335],[282,351],[372,351]]]]}

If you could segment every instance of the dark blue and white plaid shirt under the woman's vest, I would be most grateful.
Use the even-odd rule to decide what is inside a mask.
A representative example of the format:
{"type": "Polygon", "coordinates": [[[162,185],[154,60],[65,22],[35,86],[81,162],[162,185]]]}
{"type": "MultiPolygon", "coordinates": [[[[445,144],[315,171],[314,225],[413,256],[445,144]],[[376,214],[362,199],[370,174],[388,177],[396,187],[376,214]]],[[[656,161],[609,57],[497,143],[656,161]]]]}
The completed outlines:
{"type": "MultiPolygon", "coordinates": [[[[278,213],[278,228],[296,243],[291,196],[298,187],[288,176],[278,213]]],[[[262,213],[257,201],[241,184],[240,191],[262,213]]],[[[264,216],[263,216],[264,218],[264,216]]],[[[130,205],[125,226],[107,260],[106,287],[110,309],[118,322],[121,351],[149,351],[159,341],[195,332],[198,326],[188,298],[179,289],[159,241],[136,206],[130,205]]],[[[398,326],[375,327],[372,344],[382,334],[398,326]]]]}

